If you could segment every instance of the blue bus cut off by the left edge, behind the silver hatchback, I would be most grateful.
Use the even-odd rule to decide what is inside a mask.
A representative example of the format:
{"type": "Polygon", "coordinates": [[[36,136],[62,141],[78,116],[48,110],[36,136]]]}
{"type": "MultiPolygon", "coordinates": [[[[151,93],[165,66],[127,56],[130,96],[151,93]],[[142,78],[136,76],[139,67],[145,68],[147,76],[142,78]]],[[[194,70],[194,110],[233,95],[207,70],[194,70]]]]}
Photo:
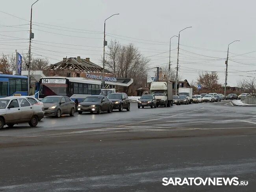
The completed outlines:
{"type": "Polygon", "coordinates": [[[0,74],[0,97],[13,96],[14,94],[28,95],[28,77],[0,74]]]}

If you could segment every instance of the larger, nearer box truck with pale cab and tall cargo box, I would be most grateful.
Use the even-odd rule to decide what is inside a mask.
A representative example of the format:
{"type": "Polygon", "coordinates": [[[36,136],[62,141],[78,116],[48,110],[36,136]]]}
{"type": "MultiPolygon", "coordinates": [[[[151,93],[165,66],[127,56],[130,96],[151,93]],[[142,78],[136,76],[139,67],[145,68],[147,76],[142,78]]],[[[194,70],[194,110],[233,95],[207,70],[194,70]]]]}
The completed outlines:
{"type": "Polygon", "coordinates": [[[173,106],[173,84],[171,82],[152,82],[150,86],[150,94],[156,97],[157,106],[173,106]]]}

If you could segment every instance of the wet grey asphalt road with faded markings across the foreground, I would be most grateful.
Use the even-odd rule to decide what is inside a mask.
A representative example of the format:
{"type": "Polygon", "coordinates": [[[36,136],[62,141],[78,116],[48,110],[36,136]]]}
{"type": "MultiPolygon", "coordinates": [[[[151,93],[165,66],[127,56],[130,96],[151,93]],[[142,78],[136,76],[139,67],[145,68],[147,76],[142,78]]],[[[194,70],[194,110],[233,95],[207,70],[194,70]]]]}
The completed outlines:
{"type": "Polygon", "coordinates": [[[254,192],[256,110],[230,102],[46,117],[0,131],[6,192],[254,192]],[[163,177],[238,177],[247,186],[163,186],[163,177]]]}

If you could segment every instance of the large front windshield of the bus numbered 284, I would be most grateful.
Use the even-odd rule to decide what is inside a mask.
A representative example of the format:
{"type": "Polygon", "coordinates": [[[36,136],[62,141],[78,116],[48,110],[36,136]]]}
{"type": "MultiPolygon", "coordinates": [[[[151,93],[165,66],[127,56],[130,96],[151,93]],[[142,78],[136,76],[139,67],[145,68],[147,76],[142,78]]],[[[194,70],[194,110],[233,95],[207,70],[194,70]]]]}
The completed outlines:
{"type": "Polygon", "coordinates": [[[51,96],[51,95],[67,95],[67,84],[57,84],[57,83],[46,83],[40,85],[39,90],[40,96],[51,96]]]}

